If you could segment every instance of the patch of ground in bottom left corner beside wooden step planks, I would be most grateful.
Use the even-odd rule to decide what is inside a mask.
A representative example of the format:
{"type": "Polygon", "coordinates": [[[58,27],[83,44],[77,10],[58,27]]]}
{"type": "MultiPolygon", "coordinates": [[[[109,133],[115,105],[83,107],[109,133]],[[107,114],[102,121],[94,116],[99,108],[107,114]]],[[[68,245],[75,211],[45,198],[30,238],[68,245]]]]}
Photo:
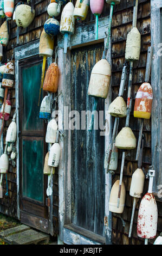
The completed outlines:
{"type": "MultiPolygon", "coordinates": [[[[0,232],[9,228],[14,228],[18,225],[21,225],[19,221],[8,217],[7,215],[0,214],[0,232]]],[[[8,245],[8,243],[0,238],[0,245],[8,245]]]]}

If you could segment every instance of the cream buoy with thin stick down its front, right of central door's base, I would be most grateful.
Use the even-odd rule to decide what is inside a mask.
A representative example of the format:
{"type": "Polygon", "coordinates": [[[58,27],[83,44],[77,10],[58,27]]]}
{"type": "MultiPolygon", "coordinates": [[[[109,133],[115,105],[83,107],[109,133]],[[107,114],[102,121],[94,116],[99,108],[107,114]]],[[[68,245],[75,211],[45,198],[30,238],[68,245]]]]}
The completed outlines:
{"type": "Polygon", "coordinates": [[[122,214],[122,212],[124,211],[125,198],[126,198],[126,190],[123,182],[121,185],[121,196],[120,196],[119,208],[117,208],[118,189],[119,189],[119,180],[116,180],[112,187],[110,198],[109,198],[109,211],[115,212],[116,214],[122,214]]]}

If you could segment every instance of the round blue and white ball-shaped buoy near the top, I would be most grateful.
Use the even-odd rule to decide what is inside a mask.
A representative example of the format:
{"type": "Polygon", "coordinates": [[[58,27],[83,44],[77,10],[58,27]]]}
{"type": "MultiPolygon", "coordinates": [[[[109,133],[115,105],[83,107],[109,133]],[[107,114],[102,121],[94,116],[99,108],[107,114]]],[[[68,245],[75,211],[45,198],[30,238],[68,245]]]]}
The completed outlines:
{"type": "Polygon", "coordinates": [[[60,23],[56,19],[50,18],[44,23],[44,31],[48,35],[57,35],[60,31],[60,23]]]}

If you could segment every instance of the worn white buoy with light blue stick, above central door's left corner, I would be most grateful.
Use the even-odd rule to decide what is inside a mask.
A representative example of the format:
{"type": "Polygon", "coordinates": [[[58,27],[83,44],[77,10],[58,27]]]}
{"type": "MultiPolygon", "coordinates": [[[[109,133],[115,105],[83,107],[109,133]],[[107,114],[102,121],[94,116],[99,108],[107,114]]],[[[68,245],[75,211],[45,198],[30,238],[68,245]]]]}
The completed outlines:
{"type": "Polygon", "coordinates": [[[60,32],[64,34],[64,53],[67,53],[68,36],[74,34],[74,5],[69,2],[63,8],[60,22],[60,32]]]}

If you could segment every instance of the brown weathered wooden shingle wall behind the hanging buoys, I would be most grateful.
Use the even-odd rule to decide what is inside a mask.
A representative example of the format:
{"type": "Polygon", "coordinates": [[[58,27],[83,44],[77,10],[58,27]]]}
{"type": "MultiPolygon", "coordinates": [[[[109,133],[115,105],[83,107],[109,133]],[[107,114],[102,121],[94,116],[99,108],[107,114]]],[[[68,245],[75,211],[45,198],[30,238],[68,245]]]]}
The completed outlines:
{"type": "MultiPolygon", "coordinates": [[[[15,1],[15,5],[17,4],[15,1]]],[[[35,0],[35,19],[27,29],[21,29],[20,31],[20,45],[24,45],[27,42],[36,40],[40,38],[41,31],[43,29],[44,22],[48,19],[47,14],[47,5],[50,1],[41,1],[35,0]]],[[[116,5],[114,8],[113,21],[112,21],[112,100],[118,96],[120,78],[122,72],[122,66],[125,61],[125,45],[126,37],[128,32],[132,27],[132,18],[133,18],[133,2],[134,0],[121,0],[119,5],[116,5]]],[[[73,1],[75,5],[76,0],[73,1]]],[[[105,7],[101,17],[109,15],[109,5],[105,3],[105,7]]],[[[141,54],[140,60],[134,63],[133,69],[133,106],[134,108],[134,99],[135,94],[142,82],[144,82],[145,77],[145,68],[146,68],[146,59],[147,59],[147,47],[151,45],[151,4],[150,0],[139,0],[138,7],[138,22],[137,27],[141,33],[141,54]]],[[[58,17],[60,19],[60,16],[58,17]]],[[[88,21],[95,20],[94,15],[89,11],[87,19],[83,23],[88,21]]],[[[1,24],[3,20],[0,21],[1,24]]],[[[81,26],[81,25],[77,25],[81,26]]],[[[16,45],[16,23],[11,22],[11,32],[10,40],[5,50],[5,58],[2,60],[2,63],[7,61],[7,58],[11,58],[12,54],[12,45],[16,45]]],[[[55,40],[56,45],[56,40],[55,40]]],[[[11,91],[11,103],[12,111],[9,121],[5,123],[4,135],[6,134],[7,127],[9,126],[12,115],[15,109],[15,89],[10,89],[11,91]]],[[[127,91],[125,91],[124,99],[127,99],[127,91]]],[[[113,119],[112,119],[113,120],[113,119]]],[[[135,136],[138,139],[139,132],[139,121],[133,117],[133,112],[131,113],[130,124],[135,136]]],[[[119,130],[125,126],[125,119],[120,121],[119,130]]],[[[149,166],[151,165],[151,120],[144,121],[144,135],[145,135],[145,144],[144,144],[144,154],[142,166],[145,169],[145,174],[148,171],[149,166]]],[[[5,136],[4,136],[5,142],[5,136]]],[[[129,187],[131,185],[131,176],[135,169],[137,169],[137,162],[135,162],[135,153],[136,150],[127,151],[126,161],[124,168],[124,183],[126,187],[126,206],[124,213],[122,215],[113,214],[112,218],[112,229],[113,229],[113,243],[114,244],[144,244],[144,240],[139,239],[137,236],[137,215],[140,200],[138,200],[136,209],[135,209],[135,218],[132,231],[132,239],[128,239],[129,224],[131,221],[132,205],[133,198],[129,196],[129,187]],[[122,219],[121,219],[122,218],[122,219]],[[124,221],[124,222],[123,222],[124,221]],[[124,225],[123,225],[124,224],[124,225]]],[[[119,163],[118,170],[115,175],[113,175],[113,184],[116,179],[119,179],[121,167],[121,151],[119,154],[119,163]]],[[[58,175],[55,175],[55,190],[54,190],[54,226],[57,226],[57,216],[58,216],[58,206],[59,198],[58,194],[58,175]]],[[[3,186],[5,190],[5,180],[3,180],[3,186]]],[[[17,217],[17,187],[16,187],[16,167],[12,167],[10,164],[8,172],[8,186],[9,186],[9,197],[4,196],[0,200],[0,211],[4,214],[17,217]]],[[[145,181],[144,193],[148,189],[148,180],[145,181]]],[[[161,203],[157,202],[158,205],[158,234],[162,230],[162,210],[161,203]]],[[[154,240],[151,240],[153,242],[154,240]]]]}

